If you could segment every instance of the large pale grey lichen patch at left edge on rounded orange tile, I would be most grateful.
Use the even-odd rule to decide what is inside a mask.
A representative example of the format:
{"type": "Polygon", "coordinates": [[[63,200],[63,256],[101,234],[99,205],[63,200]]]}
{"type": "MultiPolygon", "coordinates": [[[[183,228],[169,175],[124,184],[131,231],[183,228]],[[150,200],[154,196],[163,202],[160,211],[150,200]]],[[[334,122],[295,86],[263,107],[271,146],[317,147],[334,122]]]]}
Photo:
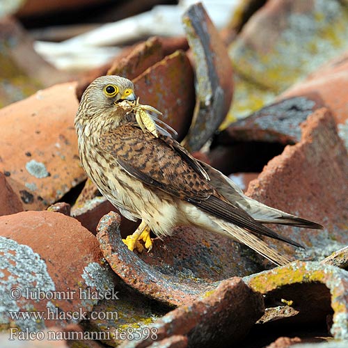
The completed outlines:
{"type": "Polygon", "coordinates": [[[0,237],[0,324],[15,322],[19,329],[35,331],[45,328],[43,320],[31,318],[11,319],[10,311],[35,310],[28,294],[55,290],[45,262],[29,246],[18,244],[12,239],[0,237]],[[13,289],[15,292],[13,292],[13,289]],[[11,292],[12,289],[12,292],[11,292]],[[14,295],[22,296],[15,299],[14,295]],[[11,298],[12,297],[12,298],[11,298]]]}

